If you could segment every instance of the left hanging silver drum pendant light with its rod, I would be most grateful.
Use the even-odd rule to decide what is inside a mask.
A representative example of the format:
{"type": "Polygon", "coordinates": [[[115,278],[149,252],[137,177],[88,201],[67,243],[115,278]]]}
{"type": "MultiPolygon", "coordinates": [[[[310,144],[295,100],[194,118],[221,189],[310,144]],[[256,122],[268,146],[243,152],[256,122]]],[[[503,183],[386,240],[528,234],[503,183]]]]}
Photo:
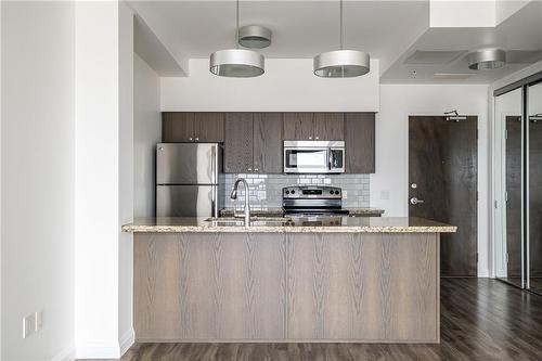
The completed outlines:
{"type": "Polygon", "coordinates": [[[250,78],[264,72],[263,55],[251,50],[238,49],[238,0],[235,10],[236,49],[219,50],[210,54],[210,73],[232,78],[250,78]]]}

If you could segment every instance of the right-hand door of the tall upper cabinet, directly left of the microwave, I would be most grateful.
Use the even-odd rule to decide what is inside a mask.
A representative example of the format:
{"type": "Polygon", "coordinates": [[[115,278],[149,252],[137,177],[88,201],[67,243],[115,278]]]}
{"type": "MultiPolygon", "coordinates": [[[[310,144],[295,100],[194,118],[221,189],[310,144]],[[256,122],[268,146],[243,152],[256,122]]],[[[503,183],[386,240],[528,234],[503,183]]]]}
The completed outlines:
{"type": "Polygon", "coordinates": [[[254,171],[282,173],[282,113],[254,114],[254,171]]]}

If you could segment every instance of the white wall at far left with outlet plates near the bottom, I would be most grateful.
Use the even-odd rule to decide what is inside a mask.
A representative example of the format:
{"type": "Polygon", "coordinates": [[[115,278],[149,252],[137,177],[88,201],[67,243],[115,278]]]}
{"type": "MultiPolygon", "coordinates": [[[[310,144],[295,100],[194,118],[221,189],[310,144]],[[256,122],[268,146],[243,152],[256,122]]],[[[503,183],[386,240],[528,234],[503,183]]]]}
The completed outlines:
{"type": "Polygon", "coordinates": [[[74,351],[74,4],[2,2],[2,360],[74,351]],[[22,338],[22,320],[43,328],[22,338]]]}

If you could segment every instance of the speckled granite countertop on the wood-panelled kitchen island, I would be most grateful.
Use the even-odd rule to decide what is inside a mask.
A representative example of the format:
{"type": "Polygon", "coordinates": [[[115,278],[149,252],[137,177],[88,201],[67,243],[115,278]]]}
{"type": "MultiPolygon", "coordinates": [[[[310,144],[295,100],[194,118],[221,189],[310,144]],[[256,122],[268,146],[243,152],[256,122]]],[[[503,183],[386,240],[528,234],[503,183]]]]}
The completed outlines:
{"type": "MultiPolygon", "coordinates": [[[[220,219],[220,218],[219,218],[220,219]]],[[[270,219],[254,218],[250,227],[243,221],[223,218],[220,223],[207,217],[138,218],[122,225],[124,232],[260,232],[260,233],[453,233],[456,227],[423,218],[334,217],[270,219]]]]}

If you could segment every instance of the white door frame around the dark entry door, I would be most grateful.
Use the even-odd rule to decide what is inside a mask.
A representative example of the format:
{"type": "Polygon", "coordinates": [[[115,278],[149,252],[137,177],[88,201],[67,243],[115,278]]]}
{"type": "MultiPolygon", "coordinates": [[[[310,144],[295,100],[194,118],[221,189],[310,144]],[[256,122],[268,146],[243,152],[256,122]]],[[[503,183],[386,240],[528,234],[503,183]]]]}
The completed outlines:
{"type": "MultiPolygon", "coordinates": [[[[405,157],[406,157],[406,169],[405,169],[405,196],[406,196],[406,215],[410,216],[410,162],[409,162],[409,156],[410,156],[410,118],[411,117],[446,117],[444,114],[409,114],[406,117],[406,152],[405,152],[405,157]]],[[[491,249],[487,249],[487,254],[485,253],[485,249],[481,249],[480,247],[482,246],[482,243],[480,240],[483,238],[483,232],[487,231],[487,229],[482,229],[485,225],[485,222],[481,222],[481,217],[485,215],[483,209],[481,208],[483,206],[483,199],[487,199],[487,195],[482,193],[481,191],[483,190],[483,186],[480,182],[480,170],[482,169],[481,167],[483,166],[483,162],[481,162],[480,156],[482,156],[480,152],[480,115],[479,114],[467,114],[466,116],[475,117],[476,118],[476,160],[477,160],[477,167],[476,167],[476,194],[477,194],[477,199],[476,199],[476,252],[477,252],[477,276],[478,278],[487,278],[488,276],[488,271],[491,271],[491,262],[488,265],[488,269],[480,267],[480,259],[482,255],[486,255],[486,257],[490,258],[491,255],[491,249]]],[[[489,166],[489,165],[488,165],[489,166]]],[[[488,190],[489,191],[489,190],[488,190]]],[[[487,218],[489,215],[486,216],[487,218]]],[[[488,234],[489,236],[489,234],[488,234]]],[[[490,246],[490,242],[488,240],[488,246],[490,246]]]]}

